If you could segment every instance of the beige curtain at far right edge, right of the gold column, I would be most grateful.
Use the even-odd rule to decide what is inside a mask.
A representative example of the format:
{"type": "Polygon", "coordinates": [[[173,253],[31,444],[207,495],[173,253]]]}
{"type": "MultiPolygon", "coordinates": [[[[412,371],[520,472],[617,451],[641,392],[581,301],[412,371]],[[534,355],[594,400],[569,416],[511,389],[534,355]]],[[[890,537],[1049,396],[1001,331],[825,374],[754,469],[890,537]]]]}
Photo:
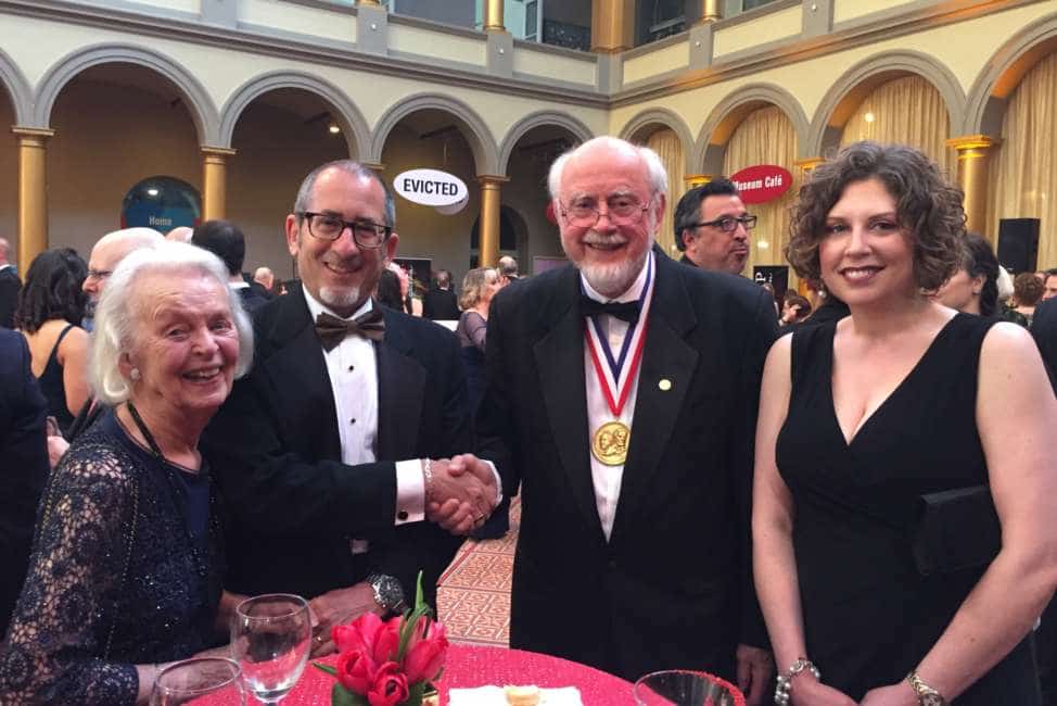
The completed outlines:
{"type": "Polygon", "coordinates": [[[1057,54],[1029,71],[1009,97],[991,165],[992,236],[998,218],[1040,218],[1039,268],[1057,266],[1057,54]]]}

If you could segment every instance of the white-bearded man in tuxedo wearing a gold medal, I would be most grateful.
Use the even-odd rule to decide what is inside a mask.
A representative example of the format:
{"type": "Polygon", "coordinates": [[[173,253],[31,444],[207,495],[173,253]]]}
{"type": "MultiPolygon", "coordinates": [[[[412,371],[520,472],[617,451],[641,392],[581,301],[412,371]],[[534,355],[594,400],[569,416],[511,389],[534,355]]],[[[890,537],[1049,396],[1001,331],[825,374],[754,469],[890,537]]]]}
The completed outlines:
{"type": "Polygon", "coordinates": [[[479,451],[508,494],[521,483],[510,643],[629,680],[704,669],[759,704],[749,517],[774,304],[651,251],[666,181],[612,137],[559,157],[572,264],[492,303],[479,451]]]}

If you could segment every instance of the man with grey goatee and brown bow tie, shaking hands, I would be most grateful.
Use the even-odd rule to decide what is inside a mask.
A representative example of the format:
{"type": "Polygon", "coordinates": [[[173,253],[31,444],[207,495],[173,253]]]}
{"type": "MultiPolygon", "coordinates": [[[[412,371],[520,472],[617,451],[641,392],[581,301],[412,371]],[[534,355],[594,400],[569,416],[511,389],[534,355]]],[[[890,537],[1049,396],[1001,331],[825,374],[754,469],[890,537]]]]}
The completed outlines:
{"type": "Polygon", "coordinates": [[[461,543],[445,529],[498,502],[494,471],[458,456],[471,425],[455,336],[371,300],[394,223],[366,167],[305,178],[286,216],[302,286],[257,310],[253,369],[202,439],[229,514],[225,588],[310,598],[315,655],[334,625],[400,613],[420,569],[435,601],[461,543]]]}

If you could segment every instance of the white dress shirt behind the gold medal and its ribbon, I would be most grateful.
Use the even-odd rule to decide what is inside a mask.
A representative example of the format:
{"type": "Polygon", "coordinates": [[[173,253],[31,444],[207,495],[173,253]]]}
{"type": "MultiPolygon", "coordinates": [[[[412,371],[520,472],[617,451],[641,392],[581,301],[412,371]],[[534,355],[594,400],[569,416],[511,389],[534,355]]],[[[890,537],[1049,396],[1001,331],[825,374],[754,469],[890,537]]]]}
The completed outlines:
{"type": "MultiPolygon", "coordinates": [[[[653,253],[648,253],[646,257],[646,263],[642,265],[642,270],[638,274],[638,277],[632,283],[632,286],[623,294],[615,299],[608,299],[607,297],[599,294],[591,288],[587,279],[583,274],[580,276],[581,283],[584,287],[584,292],[590,299],[597,302],[634,302],[638,301],[639,297],[642,294],[642,289],[646,287],[647,274],[653,267],[653,253]]],[[[650,292],[647,294],[646,300],[642,302],[642,308],[639,313],[638,326],[645,327],[647,324],[647,315],[650,308],[650,302],[653,299],[653,287],[650,287],[650,292]]],[[[624,337],[629,335],[631,326],[627,322],[624,322],[610,314],[599,314],[597,316],[600,328],[602,329],[603,336],[600,337],[603,344],[609,345],[609,350],[613,354],[613,360],[617,360],[621,354],[621,348],[624,343],[624,337]]],[[[587,325],[590,326],[590,317],[586,318],[587,325]]],[[[645,335],[645,329],[642,333],[645,335]]],[[[628,346],[627,357],[624,361],[624,367],[628,367],[632,364],[632,357],[635,353],[633,350],[634,345],[628,346]]],[[[602,351],[598,352],[598,355],[602,358],[600,361],[603,367],[608,367],[608,363],[604,360],[604,353],[602,351]]],[[[595,363],[591,360],[591,352],[587,346],[586,341],[584,342],[584,374],[587,379],[587,432],[588,445],[591,439],[595,438],[595,432],[603,424],[608,421],[619,420],[627,426],[632,430],[629,437],[631,443],[635,443],[635,429],[632,426],[632,420],[635,416],[635,400],[638,396],[638,379],[641,373],[641,367],[635,370],[633,378],[628,379],[626,384],[631,386],[627,393],[627,400],[624,403],[624,407],[621,409],[621,414],[617,417],[613,416],[610,411],[609,403],[606,401],[606,393],[602,391],[603,382],[598,379],[598,375],[595,370],[595,363]]],[[[619,395],[614,394],[614,402],[619,400],[619,395]]],[[[598,519],[601,520],[602,531],[606,533],[606,539],[608,540],[613,531],[613,519],[616,517],[616,503],[621,495],[621,481],[624,477],[624,466],[607,466],[602,462],[595,458],[594,454],[590,454],[590,469],[591,469],[591,481],[595,486],[595,504],[598,507],[598,519]]]]}

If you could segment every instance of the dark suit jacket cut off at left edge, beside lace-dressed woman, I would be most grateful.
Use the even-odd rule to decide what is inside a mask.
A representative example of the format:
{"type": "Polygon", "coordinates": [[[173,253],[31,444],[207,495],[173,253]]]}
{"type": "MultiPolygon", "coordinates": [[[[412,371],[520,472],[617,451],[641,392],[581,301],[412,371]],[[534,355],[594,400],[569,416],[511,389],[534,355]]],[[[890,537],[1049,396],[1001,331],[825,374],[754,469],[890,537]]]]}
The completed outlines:
{"type": "Polygon", "coordinates": [[[48,478],[48,402],[21,333],[0,328],[0,635],[29,565],[37,503],[48,478]]]}

